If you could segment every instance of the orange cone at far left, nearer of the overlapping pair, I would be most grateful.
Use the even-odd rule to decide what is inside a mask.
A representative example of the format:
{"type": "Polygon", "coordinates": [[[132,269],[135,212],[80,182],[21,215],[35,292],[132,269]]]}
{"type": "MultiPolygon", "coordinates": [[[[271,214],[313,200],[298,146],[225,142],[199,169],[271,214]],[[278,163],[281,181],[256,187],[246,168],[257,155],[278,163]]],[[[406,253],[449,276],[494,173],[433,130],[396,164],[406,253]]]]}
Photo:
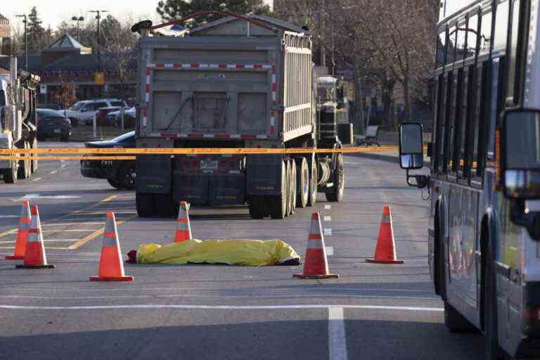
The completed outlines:
{"type": "Polygon", "coordinates": [[[25,263],[23,265],[15,265],[15,267],[17,269],[54,269],[54,265],[47,264],[37,205],[32,206],[30,214],[32,215],[32,220],[30,221],[30,229],[28,229],[25,263]]]}

